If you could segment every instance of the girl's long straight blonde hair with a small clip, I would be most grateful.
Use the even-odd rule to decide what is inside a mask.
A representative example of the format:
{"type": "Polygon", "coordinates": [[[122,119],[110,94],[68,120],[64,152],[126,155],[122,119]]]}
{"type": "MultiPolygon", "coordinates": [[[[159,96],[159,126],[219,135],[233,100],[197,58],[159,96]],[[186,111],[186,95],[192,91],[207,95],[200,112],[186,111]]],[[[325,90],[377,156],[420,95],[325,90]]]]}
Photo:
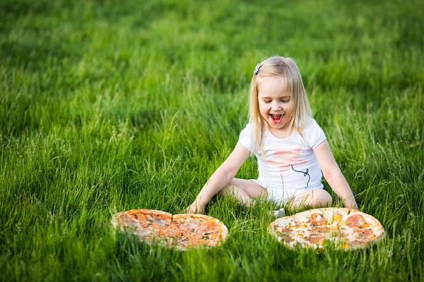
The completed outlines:
{"type": "Polygon", "coordinates": [[[259,99],[258,99],[258,83],[261,78],[278,76],[283,79],[284,85],[287,90],[292,94],[293,99],[293,115],[288,123],[288,129],[298,131],[300,136],[302,130],[305,128],[307,118],[312,117],[312,111],[305,93],[303,86],[302,75],[295,60],[291,58],[284,58],[281,56],[273,56],[271,58],[261,61],[255,69],[250,82],[249,90],[249,123],[252,123],[253,132],[255,135],[255,148],[261,148],[262,157],[265,159],[264,154],[264,130],[266,121],[259,112],[259,99]],[[258,68],[259,66],[259,68],[258,68]]]}

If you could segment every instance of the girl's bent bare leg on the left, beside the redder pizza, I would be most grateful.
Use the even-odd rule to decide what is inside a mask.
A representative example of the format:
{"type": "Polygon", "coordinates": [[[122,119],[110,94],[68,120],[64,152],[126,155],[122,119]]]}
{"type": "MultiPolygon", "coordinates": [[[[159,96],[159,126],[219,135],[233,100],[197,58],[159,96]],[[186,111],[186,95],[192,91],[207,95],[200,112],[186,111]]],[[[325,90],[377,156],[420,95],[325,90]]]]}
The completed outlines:
{"type": "Polygon", "coordinates": [[[230,183],[220,190],[219,194],[223,197],[235,197],[241,204],[250,206],[252,199],[257,197],[266,197],[268,192],[257,183],[250,180],[232,178],[230,183]]]}

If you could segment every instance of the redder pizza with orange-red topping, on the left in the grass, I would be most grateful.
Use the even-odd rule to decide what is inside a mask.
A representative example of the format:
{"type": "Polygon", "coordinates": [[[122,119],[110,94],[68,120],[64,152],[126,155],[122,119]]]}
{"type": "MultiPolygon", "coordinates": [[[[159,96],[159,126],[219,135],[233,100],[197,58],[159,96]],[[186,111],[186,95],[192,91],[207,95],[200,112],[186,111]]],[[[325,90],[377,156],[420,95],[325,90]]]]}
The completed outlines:
{"type": "Polygon", "coordinates": [[[228,228],[204,214],[169,214],[153,209],[131,209],[112,216],[112,226],[129,231],[148,245],[160,244],[187,250],[216,247],[228,236],[228,228]]]}

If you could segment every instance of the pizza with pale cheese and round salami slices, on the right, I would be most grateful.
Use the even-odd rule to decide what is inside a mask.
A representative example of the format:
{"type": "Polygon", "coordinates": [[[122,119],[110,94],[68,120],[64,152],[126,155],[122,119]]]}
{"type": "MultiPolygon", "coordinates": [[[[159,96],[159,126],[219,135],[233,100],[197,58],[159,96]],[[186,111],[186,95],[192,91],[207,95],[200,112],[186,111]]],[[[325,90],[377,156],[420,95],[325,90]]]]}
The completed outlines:
{"type": "Polygon", "coordinates": [[[351,250],[381,239],[384,228],[369,214],[354,209],[324,208],[276,219],[270,224],[269,233],[290,248],[319,250],[329,244],[351,250]]]}

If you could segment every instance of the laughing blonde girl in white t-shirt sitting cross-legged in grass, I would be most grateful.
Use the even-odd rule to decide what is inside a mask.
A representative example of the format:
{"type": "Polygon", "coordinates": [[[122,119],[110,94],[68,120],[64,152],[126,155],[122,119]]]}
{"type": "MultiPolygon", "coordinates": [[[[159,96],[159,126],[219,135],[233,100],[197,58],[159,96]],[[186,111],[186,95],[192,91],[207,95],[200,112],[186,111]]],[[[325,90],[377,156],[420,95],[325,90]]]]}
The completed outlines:
{"type": "Polygon", "coordinates": [[[275,56],[257,65],[250,84],[249,114],[249,124],[234,150],[187,212],[204,213],[206,204],[218,192],[247,206],[257,197],[267,197],[276,204],[289,203],[290,207],[330,206],[333,201],[321,183],[322,174],[345,207],[358,209],[324,132],[311,117],[293,59],[275,56]],[[250,153],[257,157],[259,177],[234,178],[250,153]]]}

